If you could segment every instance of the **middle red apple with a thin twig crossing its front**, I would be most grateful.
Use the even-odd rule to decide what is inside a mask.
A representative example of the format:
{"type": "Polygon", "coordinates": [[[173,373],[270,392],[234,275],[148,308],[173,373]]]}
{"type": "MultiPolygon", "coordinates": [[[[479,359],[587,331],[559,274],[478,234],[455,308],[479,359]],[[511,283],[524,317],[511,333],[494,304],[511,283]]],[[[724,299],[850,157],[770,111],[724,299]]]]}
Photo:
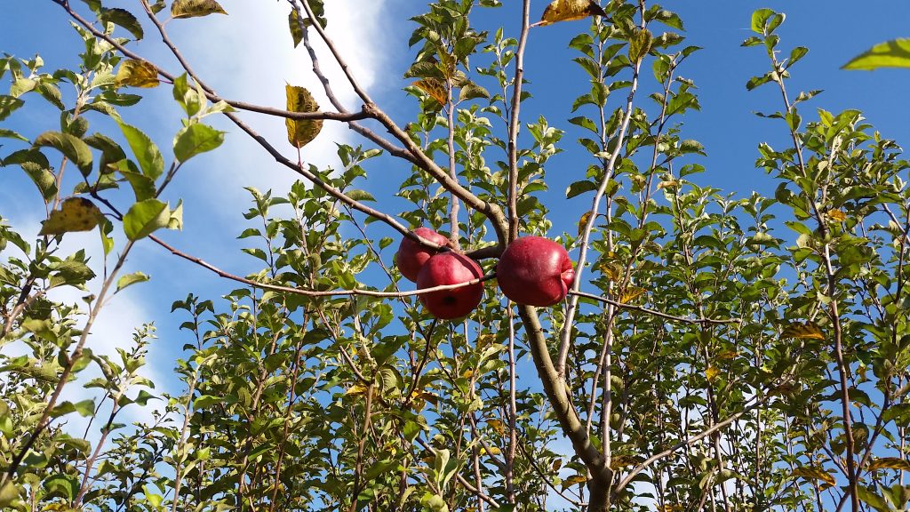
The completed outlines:
{"type": "MultiPolygon", "coordinates": [[[[440,252],[428,260],[417,275],[419,289],[432,288],[443,284],[458,284],[483,277],[483,270],[477,261],[458,252],[440,252]]],[[[420,302],[436,318],[451,320],[460,318],[480,304],[483,283],[478,282],[451,290],[440,290],[420,295],[420,302]]]]}

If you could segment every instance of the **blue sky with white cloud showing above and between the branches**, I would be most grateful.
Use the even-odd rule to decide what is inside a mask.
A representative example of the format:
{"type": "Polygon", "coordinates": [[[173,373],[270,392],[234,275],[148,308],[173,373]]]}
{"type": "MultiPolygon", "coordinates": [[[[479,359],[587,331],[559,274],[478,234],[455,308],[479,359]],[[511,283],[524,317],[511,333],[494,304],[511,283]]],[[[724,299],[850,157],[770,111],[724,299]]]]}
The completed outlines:
{"type": "MultiPolygon", "coordinates": [[[[74,4],[81,6],[79,2],[74,4]]],[[[327,4],[330,34],[336,37],[342,53],[348,56],[355,74],[380,106],[403,125],[415,111],[410,99],[401,92],[402,87],[409,85],[402,75],[412,56],[407,40],[413,26],[408,18],[422,12],[425,3],[329,0],[327,4]]],[[[506,4],[518,3],[507,1],[506,4]]],[[[136,2],[109,2],[106,5],[134,8],[136,2]]],[[[276,107],[284,103],[286,81],[308,86],[321,96],[316,82],[309,77],[306,56],[302,50],[290,48],[286,21],[288,7],[284,2],[222,0],[222,5],[228,16],[177,20],[168,25],[177,44],[209,85],[223,97],[276,107]]],[[[541,0],[532,2],[532,19],[540,16],[545,5],[541,0]]],[[[910,129],[906,126],[910,113],[906,95],[910,70],[885,69],[869,73],[839,69],[852,56],[875,43],[910,36],[910,28],[907,28],[910,9],[905,2],[876,1],[859,5],[843,0],[671,1],[665,7],[682,16],[688,44],[703,47],[680,69],[683,77],[692,78],[699,87],[702,105],[701,112],[686,116],[682,134],[684,138],[701,141],[708,154],[696,159],[707,170],[693,179],[740,195],[748,195],[753,189],[763,193],[773,190],[773,181],[763,171],[754,169],[756,147],[763,141],[783,147],[786,132],[779,122],[758,118],[753,112],[779,109],[780,99],[773,87],[763,87],[752,93],[746,91],[744,84],[749,77],[763,74],[768,64],[763,49],[740,46],[743,39],[751,35],[751,13],[764,6],[787,15],[779,31],[784,51],[793,46],[810,48],[808,56],[794,67],[794,78],[789,83],[792,97],[800,90],[824,89],[823,94],[804,105],[804,119],[815,118],[815,108],[834,112],[858,108],[885,137],[895,138],[899,144],[910,144],[910,129]]],[[[59,6],[50,0],[10,0],[5,7],[0,16],[0,51],[23,58],[40,54],[47,71],[75,63],[74,54],[81,43],[59,6]]],[[[485,11],[476,24],[490,30],[504,25],[507,34],[517,35],[519,19],[515,14],[511,7],[510,10],[485,11]]],[[[551,126],[566,129],[567,135],[563,139],[566,148],[570,148],[579,135],[578,128],[567,122],[568,118],[578,115],[570,112],[571,101],[588,88],[587,78],[571,62],[574,53],[567,46],[571,37],[586,26],[586,22],[573,22],[535,28],[528,45],[526,78],[531,82],[528,90],[533,97],[523,107],[525,119],[536,120],[544,115],[551,126]]],[[[147,27],[147,39],[136,46],[136,51],[177,71],[173,59],[152,35],[151,27],[147,27]]],[[[331,75],[339,77],[338,70],[330,67],[328,60],[324,60],[323,67],[332,68],[331,75]]],[[[650,73],[646,77],[650,77],[650,73]]],[[[343,82],[336,80],[336,83],[349,107],[358,108],[359,103],[352,93],[341,87],[343,82]]],[[[6,84],[0,84],[0,88],[6,84]]],[[[64,91],[67,92],[66,88],[64,91]]],[[[126,109],[125,120],[146,129],[159,146],[166,149],[179,128],[179,108],[170,99],[169,87],[142,94],[147,99],[140,107],[126,109]]],[[[619,97],[624,94],[613,97],[612,105],[616,105],[619,97]]],[[[56,110],[42,103],[37,97],[31,98],[29,106],[4,121],[4,127],[20,131],[29,138],[45,129],[54,129],[56,110]],[[29,108],[38,105],[41,107],[29,108]]],[[[320,103],[328,106],[324,99],[320,103]]],[[[281,144],[285,129],[281,119],[253,115],[244,115],[244,118],[281,144]]],[[[366,144],[347,128],[329,122],[326,125],[319,138],[304,151],[308,162],[338,166],[334,157],[335,142],[366,144]]],[[[192,160],[167,194],[172,202],[178,198],[185,200],[185,230],[168,233],[167,240],[227,271],[243,274],[254,271],[256,261],[239,253],[238,248],[242,245],[235,240],[240,231],[249,227],[241,217],[248,209],[248,194],[242,187],[274,188],[280,195],[294,178],[238,133],[237,128],[221,121],[218,127],[229,132],[225,146],[192,160]]],[[[111,125],[98,117],[93,118],[92,129],[112,131],[111,125]]],[[[3,143],[5,147],[0,148],[0,156],[15,148],[15,144],[8,141],[3,143]]],[[[289,146],[281,147],[287,148],[289,158],[295,156],[289,146]]],[[[551,234],[563,230],[573,232],[581,213],[590,208],[589,197],[566,201],[563,195],[568,183],[583,177],[589,163],[578,151],[566,151],[551,159],[548,167],[550,191],[543,196],[545,204],[551,208],[554,222],[551,234]]],[[[407,166],[388,159],[373,164],[368,170],[372,178],[362,188],[370,189],[379,198],[393,193],[409,172],[407,166]]],[[[395,203],[387,210],[395,212],[395,203]]],[[[25,175],[17,168],[0,169],[0,215],[12,220],[13,226],[30,238],[35,236],[43,214],[34,187],[25,175]]],[[[375,230],[377,238],[389,234],[380,231],[377,224],[370,229],[375,230]]],[[[67,239],[71,247],[84,246],[95,254],[99,251],[94,232],[68,235],[67,239]]],[[[388,262],[392,251],[394,246],[386,252],[388,262]]],[[[96,340],[90,343],[109,349],[128,341],[129,333],[138,323],[154,320],[161,339],[153,346],[149,370],[156,377],[159,388],[177,391],[170,368],[177,357],[177,347],[184,343],[183,334],[177,332],[177,325],[184,319],[169,315],[171,302],[184,298],[188,292],[216,297],[235,286],[219,281],[214,274],[186,261],[168,256],[150,242],[134,252],[128,267],[127,271],[147,271],[153,281],[134,287],[126,296],[112,302],[96,327],[96,340]]]]}

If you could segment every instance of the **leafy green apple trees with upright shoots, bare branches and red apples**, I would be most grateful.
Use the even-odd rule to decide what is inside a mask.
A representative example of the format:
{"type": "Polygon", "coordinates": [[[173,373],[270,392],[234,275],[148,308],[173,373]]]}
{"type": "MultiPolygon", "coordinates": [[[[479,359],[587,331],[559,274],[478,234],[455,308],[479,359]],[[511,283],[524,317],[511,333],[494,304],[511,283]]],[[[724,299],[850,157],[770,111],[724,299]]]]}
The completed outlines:
{"type": "Polygon", "coordinates": [[[530,0],[432,2],[411,20],[407,119],[360,86],[323,0],[287,0],[280,22],[329,104],[289,85],[286,108],[219,96],[173,43],[224,19],[215,0],[42,1],[85,45],[60,68],[0,59],[0,177],[34,181],[45,218],[29,232],[0,205],[0,508],[905,509],[908,163],[860,112],[787,87],[808,50],[780,39],[783,14],[755,11],[742,49],[767,56],[746,87],[776,89],[751,108],[786,141],[756,143],[754,172],[776,183],[764,197],[700,180],[705,148],[683,126],[700,48],[650,1],[555,0],[542,15],[530,0]],[[521,30],[480,30],[484,11],[521,30]],[[558,55],[588,77],[549,99],[571,108],[576,140],[522,110],[526,76],[544,72],[529,37],[554,24],[576,27],[558,55]],[[173,90],[176,105],[151,107],[182,113],[172,143],[136,114],[145,87],[173,90]],[[59,123],[10,128],[42,103],[59,123]],[[263,116],[288,140],[248,124],[263,116]],[[359,141],[339,144],[335,169],[308,165],[329,123],[359,141]],[[187,161],[241,137],[299,178],[250,189],[248,224],[222,233],[258,259],[248,275],[160,236],[181,228],[187,161]],[[580,165],[551,169],[561,151],[580,165]],[[543,200],[555,173],[572,177],[560,202],[588,211],[564,232],[543,200]],[[379,175],[397,198],[367,190],[379,175]],[[61,249],[85,230],[100,261],[61,249]],[[236,290],[170,298],[182,333],[137,325],[118,356],[93,352],[106,305],[148,286],[122,271],[137,245],[236,290]],[[177,393],[142,376],[149,343],[184,344],[177,393]],[[99,398],[65,400],[73,387],[99,398]],[[153,420],[125,425],[140,407],[153,420]]]}

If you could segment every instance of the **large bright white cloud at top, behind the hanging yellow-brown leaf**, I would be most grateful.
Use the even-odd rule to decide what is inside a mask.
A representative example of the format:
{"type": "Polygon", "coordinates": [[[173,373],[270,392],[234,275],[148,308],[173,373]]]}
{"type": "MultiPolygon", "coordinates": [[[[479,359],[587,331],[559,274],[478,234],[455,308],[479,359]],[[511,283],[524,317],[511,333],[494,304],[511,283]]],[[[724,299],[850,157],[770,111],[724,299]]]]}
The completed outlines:
{"type": "MultiPolygon", "coordinates": [[[[327,31],[336,47],[357,77],[359,85],[369,90],[386,62],[387,51],[382,31],[388,24],[383,18],[385,0],[331,0],[326,3],[327,31]]],[[[285,85],[308,87],[323,109],[333,109],[319,80],[312,72],[306,49],[293,47],[288,29],[287,2],[222,2],[227,16],[210,16],[206,20],[177,20],[168,30],[199,77],[221,97],[283,108],[285,85]]],[[[329,77],[334,91],[346,108],[357,110],[361,102],[349,86],[341,68],[314,32],[310,35],[317,48],[322,71],[329,77]]],[[[288,159],[297,159],[297,151],[287,142],[283,118],[250,112],[238,114],[249,126],[278,148],[288,159]]],[[[293,171],[280,166],[258,144],[227,119],[219,128],[229,132],[225,145],[214,154],[201,157],[202,165],[187,169],[200,190],[197,200],[212,201],[213,206],[237,200],[248,200],[244,186],[283,191],[298,179],[293,171]]],[[[303,148],[305,163],[320,168],[337,167],[336,144],[350,143],[355,134],[338,122],[324,123],[319,137],[303,148]]],[[[178,180],[181,180],[178,178],[178,180]]],[[[187,184],[186,177],[181,183],[187,184]]],[[[217,211],[220,209],[214,209],[217,211]]],[[[236,209],[225,209],[235,214],[236,209]]]]}

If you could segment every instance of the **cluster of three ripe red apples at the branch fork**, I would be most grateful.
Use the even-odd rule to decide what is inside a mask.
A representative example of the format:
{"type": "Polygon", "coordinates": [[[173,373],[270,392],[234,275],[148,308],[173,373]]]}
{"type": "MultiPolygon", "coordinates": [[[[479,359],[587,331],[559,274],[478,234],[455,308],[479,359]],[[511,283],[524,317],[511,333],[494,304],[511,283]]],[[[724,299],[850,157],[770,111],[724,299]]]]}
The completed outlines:
{"type": "MultiPolygon", "coordinates": [[[[461,284],[483,277],[477,261],[453,251],[448,238],[430,228],[413,233],[439,249],[405,238],[396,259],[401,275],[417,283],[420,290],[461,284]]],[[[496,266],[502,293],[512,302],[551,306],[565,299],[575,269],[569,253],[558,243],[535,236],[512,241],[496,266]]],[[[480,304],[483,283],[475,282],[448,290],[420,294],[420,302],[435,317],[452,320],[467,315],[480,304]]]]}

